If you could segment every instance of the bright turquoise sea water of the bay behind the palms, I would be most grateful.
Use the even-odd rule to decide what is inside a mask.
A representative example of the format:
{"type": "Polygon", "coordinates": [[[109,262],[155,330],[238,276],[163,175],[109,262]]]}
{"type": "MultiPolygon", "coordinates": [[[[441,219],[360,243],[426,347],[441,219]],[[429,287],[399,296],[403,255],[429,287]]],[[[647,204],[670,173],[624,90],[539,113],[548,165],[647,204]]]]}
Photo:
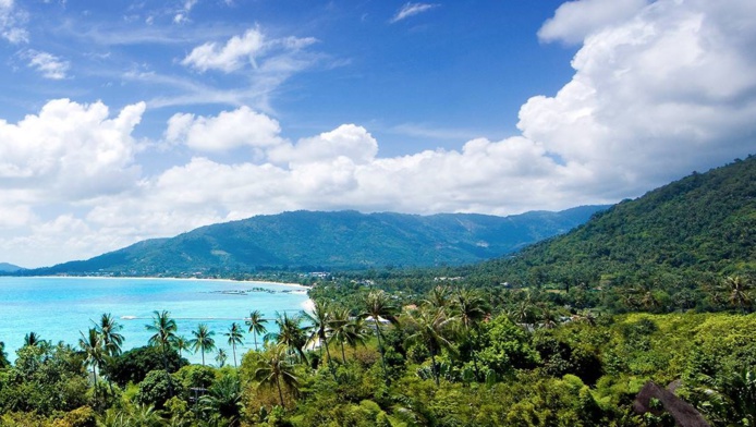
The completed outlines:
{"type": "MultiPolygon", "coordinates": [[[[147,345],[154,310],[168,310],[176,320],[180,335],[192,338],[198,324],[215,331],[218,347],[225,349],[233,365],[228,331],[233,321],[244,325],[249,312],[258,309],[266,318],[276,313],[302,310],[308,301],[305,290],[295,285],[261,282],[191,279],[101,279],[101,278],[0,278],[0,341],[10,359],[23,345],[24,335],[36,332],[53,343],[76,345],[80,331],[86,332],[103,313],[123,325],[123,350],[147,345]],[[265,289],[268,292],[261,292],[265,289]]],[[[268,330],[275,329],[272,321],[268,330]]],[[[258,337],[258,341],[261,339],[258,337]]],[[[237,358],[254,349],[252,333],[245,333],[237,358]]],[[[199,363],[199,354],[184,354],[199,363]]],[[[207,364],[216,364],[215,353],[205,354],[207,364]]]]}

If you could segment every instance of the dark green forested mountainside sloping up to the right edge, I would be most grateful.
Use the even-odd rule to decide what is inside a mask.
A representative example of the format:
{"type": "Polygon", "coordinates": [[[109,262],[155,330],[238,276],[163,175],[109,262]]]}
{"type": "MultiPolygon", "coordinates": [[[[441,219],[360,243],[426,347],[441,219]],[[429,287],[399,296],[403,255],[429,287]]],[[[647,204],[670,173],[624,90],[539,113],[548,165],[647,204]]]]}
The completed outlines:
{"type": "Polygon", "coordinates": [[[486,282],[693,286],[756,272],[756,157],[624,200],[584,225],[471,267],[486,282]]]}

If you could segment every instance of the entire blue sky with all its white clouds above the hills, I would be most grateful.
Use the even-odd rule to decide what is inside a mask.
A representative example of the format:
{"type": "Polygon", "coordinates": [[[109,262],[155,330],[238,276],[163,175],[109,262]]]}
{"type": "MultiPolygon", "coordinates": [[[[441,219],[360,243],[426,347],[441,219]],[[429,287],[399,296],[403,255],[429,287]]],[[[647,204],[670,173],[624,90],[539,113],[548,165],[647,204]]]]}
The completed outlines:
{"type": "Polygon", "coordinates": [[[756,152],[753,0],[0,0],[0,261],[512,215],[756,152]]]}

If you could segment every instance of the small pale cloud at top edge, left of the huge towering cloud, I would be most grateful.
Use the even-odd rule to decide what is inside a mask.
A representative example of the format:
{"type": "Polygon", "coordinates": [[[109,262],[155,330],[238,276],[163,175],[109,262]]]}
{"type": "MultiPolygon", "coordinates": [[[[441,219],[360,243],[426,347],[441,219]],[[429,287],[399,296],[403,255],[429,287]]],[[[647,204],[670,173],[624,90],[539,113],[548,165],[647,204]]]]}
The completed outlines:
{"type": "Polygon", "coordinates": [[[553,17],[538,30],[544,41],[583,41],[601,28],[621,23],[635,15],[649,0],[575,0],[557,9],[553,17]]]}

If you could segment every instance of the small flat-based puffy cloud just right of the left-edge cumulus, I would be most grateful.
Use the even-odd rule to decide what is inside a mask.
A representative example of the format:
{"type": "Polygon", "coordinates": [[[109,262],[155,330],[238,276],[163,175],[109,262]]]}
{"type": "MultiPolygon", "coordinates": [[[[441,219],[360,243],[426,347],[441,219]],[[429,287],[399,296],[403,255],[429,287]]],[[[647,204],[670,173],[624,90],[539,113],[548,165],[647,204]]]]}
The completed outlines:
{"type": "Polygon", "coordinates": [[[228,151],[237,147],[264,148],[281,144],[278,122],[241,107],[217,117],[176,113],[168,122],[166,139],[198,151],[228,151]]]}

